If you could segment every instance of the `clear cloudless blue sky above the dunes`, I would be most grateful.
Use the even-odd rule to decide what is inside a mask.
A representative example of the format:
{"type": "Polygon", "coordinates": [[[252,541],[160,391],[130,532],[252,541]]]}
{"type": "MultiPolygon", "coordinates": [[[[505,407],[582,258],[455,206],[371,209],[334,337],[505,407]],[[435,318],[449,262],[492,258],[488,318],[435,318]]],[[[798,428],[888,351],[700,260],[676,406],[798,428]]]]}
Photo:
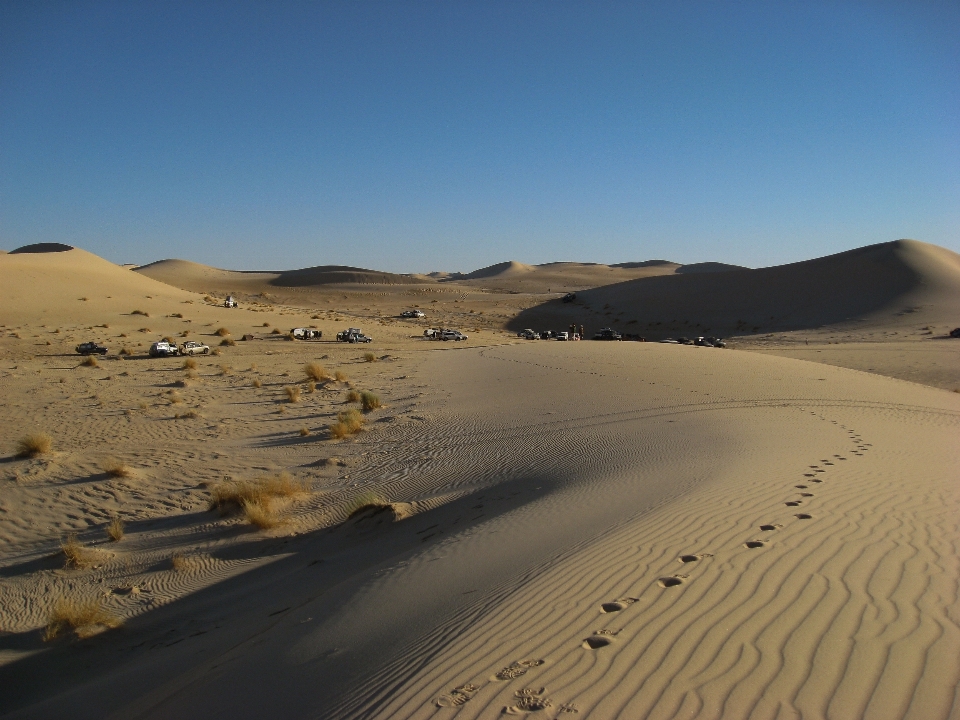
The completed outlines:
{"type": "Polygon", "coordinates": [[[0,3],[0,247],[469,271],[960,252],[960,2],[0,3]]]}

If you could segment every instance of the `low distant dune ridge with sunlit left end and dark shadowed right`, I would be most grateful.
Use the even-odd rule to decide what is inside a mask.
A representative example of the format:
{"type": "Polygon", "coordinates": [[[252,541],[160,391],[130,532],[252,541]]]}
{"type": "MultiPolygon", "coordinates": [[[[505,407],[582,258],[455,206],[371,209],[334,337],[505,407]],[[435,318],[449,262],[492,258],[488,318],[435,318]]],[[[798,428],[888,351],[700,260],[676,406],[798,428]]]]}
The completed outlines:
{"type": "Polygon", "coordinates": [[[344,265],[318,265],[299,270],[246,272],[221,270],[188,260],[159,260],[136,268],[154,280],[192,292],[255,295],[274,288],[308,288],[334,284],[406,285],[433,282],[422,276],[366,270],[344,265]]]}

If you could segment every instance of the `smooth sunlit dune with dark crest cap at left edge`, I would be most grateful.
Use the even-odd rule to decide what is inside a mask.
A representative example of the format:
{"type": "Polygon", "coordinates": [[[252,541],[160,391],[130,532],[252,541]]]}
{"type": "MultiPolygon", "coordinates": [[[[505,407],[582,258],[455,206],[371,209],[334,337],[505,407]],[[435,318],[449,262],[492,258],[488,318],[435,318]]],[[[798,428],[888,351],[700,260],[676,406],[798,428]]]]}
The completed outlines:
{"type": "Polygon", "coordinates": [[[27,246],[0,256],[0,307],[5,323],[82,322],[106,309],[129,312],[146,296],[175,300],[180,290],[131,273],[86,250],[27,246]]]}

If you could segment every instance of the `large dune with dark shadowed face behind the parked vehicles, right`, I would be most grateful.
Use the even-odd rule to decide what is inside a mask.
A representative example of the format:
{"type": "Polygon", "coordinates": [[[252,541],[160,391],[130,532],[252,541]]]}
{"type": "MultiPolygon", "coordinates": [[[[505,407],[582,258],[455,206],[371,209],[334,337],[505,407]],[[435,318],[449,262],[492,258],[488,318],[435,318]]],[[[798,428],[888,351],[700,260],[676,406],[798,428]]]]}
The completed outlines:
{"type": "Polygon", "coordinates": [[[613,325],[651,337],[733,335],[841,323],[903,326],[960,317],[960,256],[916,240],[870,245],[815,260],[728,272],[678,271],[597,288],[575,304],[551,302],[511,327],[588,330],[613,325]]]}

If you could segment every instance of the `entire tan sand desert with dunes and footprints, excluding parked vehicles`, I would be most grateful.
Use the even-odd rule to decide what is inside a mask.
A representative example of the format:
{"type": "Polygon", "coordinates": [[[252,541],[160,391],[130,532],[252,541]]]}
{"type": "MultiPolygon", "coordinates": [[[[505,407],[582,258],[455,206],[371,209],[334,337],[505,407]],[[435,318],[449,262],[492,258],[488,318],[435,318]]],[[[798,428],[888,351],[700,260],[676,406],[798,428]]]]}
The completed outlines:
{"type": "Polygon", "coordinates": [[[911,240],[424,275],[0,254],[0,714],[960,717],[957,326],[960,256],[911,240]],[[570,325],[646,341],[517,337],[570,325]],[[727,347],[657,342],[701,335],[727,347]]]}

